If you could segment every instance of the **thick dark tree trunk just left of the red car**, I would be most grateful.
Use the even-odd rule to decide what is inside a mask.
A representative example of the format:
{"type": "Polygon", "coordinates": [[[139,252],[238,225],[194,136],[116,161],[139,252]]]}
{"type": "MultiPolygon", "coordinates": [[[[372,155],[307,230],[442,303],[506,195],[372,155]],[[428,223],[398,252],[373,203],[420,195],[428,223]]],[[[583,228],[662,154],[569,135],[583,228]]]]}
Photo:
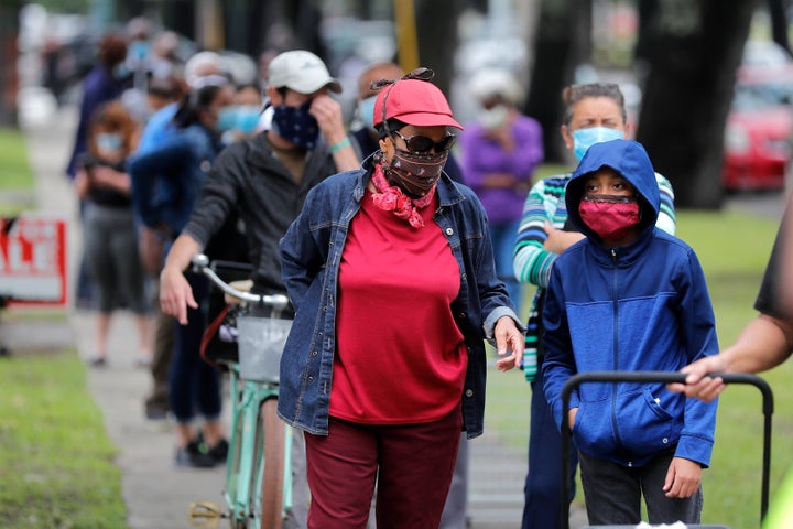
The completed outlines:
{"type": "Polygon", "coordinates": [[[724,130],[753,0],[642,0],[647,62],[637,140],[672,182],[675,206],[721,207],[724,130]]]}

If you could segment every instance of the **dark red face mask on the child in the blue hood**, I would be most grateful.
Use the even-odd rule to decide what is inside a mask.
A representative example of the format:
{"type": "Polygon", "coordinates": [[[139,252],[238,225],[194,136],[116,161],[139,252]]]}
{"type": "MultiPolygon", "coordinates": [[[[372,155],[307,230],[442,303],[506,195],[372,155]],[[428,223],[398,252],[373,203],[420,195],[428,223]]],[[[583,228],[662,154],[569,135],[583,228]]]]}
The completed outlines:
{"type": "Polygon", "coordinates": [[[639,224],[639,203],[633,197],[595,195],[585,197],[578,205],[584,224],[605,242],[622,240],[639,224]]]}

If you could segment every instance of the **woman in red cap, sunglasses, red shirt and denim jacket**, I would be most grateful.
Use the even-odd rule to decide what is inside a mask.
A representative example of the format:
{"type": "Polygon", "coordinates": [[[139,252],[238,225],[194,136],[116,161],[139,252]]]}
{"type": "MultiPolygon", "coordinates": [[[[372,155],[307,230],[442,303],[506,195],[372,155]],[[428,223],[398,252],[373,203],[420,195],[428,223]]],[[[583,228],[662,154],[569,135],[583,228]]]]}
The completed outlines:
{"type": "Polygon", "coordinates": [[[378,83],[379,151],[326,179],[280,244],[295,320],[279,414],[303,430],[309,528],[437,528],[460,440],[482,432],[486,353],[522,325],[487,218],[443,166],[454,119],[432,71],[378,83]],[[377,489],[377,492],[376,492],[377,489]]]}

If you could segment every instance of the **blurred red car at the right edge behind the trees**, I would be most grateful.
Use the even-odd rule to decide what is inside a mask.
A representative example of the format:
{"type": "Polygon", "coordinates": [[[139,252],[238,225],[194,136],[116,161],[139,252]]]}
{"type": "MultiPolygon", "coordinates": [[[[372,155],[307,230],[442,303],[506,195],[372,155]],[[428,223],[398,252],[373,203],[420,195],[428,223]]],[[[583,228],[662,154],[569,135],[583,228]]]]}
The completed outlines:
{"type": "Polygon", "coordinates": [[[782,190],[793,139],[793,69],[738,72],[725,130],[727,192],[782,190]]]}

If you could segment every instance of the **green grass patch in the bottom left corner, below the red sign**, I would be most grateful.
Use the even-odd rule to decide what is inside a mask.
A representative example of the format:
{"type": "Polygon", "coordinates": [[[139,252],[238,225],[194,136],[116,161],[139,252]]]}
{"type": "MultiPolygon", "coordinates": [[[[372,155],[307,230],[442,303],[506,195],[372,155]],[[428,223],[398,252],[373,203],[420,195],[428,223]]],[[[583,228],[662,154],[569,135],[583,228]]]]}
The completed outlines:
{"type": "Polygon", "coordinates": [[[74,350],[0,364],[3,529],[126,527],[116,449],[74,350]]]}

